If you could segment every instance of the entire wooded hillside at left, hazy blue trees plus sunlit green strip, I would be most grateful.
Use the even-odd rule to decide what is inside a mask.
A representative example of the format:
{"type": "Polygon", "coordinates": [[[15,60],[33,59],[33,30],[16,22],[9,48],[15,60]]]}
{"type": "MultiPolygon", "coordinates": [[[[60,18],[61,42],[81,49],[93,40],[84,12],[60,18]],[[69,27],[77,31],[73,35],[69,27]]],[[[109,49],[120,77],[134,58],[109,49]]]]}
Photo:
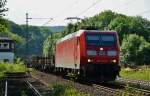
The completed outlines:
{"type": "Polygon", "coordinates": [[[17,42],[15,44],[16,56],[25,57],[26,51],[28,51],[28,55],[30,56],[43,54],[43,42],[51,33],[47,27],[29,26],[27,40],[25,25],[18,25],[5,19],[3,21],[0,22],[0,35],[8,36],[17,42]],[[27,44],[28,49],[26,50],[27,44]]]}

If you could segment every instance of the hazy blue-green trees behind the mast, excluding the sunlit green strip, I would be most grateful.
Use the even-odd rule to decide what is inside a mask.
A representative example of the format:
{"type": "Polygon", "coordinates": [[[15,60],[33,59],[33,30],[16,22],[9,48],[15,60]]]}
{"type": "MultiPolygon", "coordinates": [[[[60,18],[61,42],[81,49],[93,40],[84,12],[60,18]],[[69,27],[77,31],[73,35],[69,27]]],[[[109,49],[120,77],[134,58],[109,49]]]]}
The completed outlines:
{"type": "Polygon", "coordinates": [[[43,54],[43,42],[51,33],[48,28],[29,26],[28,39],[25,25],[17,25],[12,23],[10,28],[13,33],[19,34],[20,37],[25,39],[25,42],[22,44],[17,44],[17,56],[24,57],[26,51],[28,51],[29,56],[41,56],[43,54]],[[28,45],[28,49],[26,49],[26,45],[28,45]]]}

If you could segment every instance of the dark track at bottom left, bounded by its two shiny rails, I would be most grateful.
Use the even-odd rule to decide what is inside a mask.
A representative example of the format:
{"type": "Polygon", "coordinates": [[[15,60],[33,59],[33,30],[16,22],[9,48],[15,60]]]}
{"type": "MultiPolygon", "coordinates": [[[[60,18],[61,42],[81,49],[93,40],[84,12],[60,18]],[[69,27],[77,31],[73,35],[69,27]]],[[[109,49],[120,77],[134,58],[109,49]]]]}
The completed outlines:
{"type": "Polygon", "coordinates": [[[5,73],[5,93],[4,96],[15,96],[22,90],[27,90],[27,96],[42,96],[38,90],[25,79],[28,75],[24,72],[19,73],[5,73]]]}

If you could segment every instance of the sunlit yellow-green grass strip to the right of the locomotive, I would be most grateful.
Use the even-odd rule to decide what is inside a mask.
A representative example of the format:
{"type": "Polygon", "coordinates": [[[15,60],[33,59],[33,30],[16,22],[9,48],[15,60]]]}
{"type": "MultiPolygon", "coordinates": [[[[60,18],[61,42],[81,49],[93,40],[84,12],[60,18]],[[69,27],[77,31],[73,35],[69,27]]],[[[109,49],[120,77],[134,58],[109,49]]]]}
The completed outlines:
{"type": "Polygon", "coordinates": [[[129,79],[150,81],[150,68],[146,68],[143,66],[141,67],[140,70],[133,70],[133,69],[126,70],[125,68],[123,68],[121,69],[120,76],[129,79]]]}

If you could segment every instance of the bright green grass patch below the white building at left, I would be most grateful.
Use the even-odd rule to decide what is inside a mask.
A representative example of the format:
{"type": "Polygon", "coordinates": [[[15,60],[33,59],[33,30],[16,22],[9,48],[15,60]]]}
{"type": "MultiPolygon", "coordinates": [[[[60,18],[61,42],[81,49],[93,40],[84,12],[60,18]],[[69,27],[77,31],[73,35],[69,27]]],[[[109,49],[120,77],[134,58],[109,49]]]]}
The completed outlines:
{"type": "Polygon", "coordinates": [[[0,77],[3,77],[5,72],[26,72],[26,68],[21,62],[15,64],[0,62],[0,77]]]}

